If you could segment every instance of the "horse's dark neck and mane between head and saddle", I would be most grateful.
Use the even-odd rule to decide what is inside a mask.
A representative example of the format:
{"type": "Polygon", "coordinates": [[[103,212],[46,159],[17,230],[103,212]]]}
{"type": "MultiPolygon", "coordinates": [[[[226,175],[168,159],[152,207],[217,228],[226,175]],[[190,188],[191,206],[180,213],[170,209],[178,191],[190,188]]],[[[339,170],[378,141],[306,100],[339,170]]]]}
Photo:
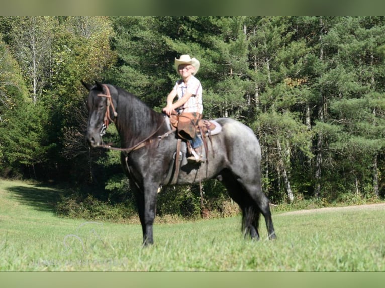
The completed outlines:
{"type": "Polygon", "coordinates": [[[132,146],[148,137],[164,121],[161,113],[155,112],[139,97],[126,90],[112,86],[111,95],[116,99],[118,113],[115,125],[120,132],[122,146],[132,146]]]}

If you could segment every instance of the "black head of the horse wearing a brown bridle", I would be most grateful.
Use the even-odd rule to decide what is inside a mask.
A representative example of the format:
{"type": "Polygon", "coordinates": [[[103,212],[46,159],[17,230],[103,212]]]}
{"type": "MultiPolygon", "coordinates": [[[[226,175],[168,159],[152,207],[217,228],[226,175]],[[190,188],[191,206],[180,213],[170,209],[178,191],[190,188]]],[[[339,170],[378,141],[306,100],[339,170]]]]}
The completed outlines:
{"type": "Polygon", "coordinates": [[[88,89],[88,125],[86,139],[92,147],[103,144],[102,136],[105,133],[109,123],[117,116],[114,108],[114,102],[107,85],[95,81],[95,85],[84,83],[88,89]]]}

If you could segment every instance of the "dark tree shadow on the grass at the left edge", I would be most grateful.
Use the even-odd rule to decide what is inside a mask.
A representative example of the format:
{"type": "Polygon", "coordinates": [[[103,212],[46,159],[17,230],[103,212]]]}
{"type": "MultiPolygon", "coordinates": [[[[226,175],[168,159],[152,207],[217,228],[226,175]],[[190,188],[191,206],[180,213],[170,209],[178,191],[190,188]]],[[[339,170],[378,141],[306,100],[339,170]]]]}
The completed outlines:
{"type": "Polygon", "coordinates": [[[12,199],[36,210],[52,213],[55,212],[56,203],[62,194],[60,190],[39,186],[13,186],[6,190],[11,192],[12,199]]]}

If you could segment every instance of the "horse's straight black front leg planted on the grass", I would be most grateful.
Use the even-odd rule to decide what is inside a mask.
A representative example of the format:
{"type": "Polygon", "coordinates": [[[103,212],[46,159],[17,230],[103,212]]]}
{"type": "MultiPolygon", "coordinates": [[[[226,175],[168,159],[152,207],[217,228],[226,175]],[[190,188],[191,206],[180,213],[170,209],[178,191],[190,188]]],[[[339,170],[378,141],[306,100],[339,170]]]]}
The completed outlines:
{"type": "Polygon", "coordinates": [[[154,243],[152,226],[155,219],[156,197],[159,185],[149,183],[144,185],[144,224],[143,246],[154,243]]]}

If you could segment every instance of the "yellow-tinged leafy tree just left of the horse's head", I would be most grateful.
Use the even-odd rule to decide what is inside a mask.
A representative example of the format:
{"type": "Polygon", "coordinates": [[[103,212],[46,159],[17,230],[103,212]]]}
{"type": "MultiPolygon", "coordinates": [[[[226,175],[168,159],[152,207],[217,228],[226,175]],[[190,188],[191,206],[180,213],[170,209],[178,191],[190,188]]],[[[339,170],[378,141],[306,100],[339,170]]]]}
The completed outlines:
{"type": "MultiPolygon", "coordinates": [[[[116,55],[110,48],[114,35],[108,17],[66,17],[61,19],[53,41],[53,85],[44,97],[50,109],[51,138],[62,139],[57,160],[66,171],[61,173],[78,179],[92,178],[92,162],[101,153],[90,151],[84,141],[87,113],[86,90],[80,80],[103,79],[104,71],[112,67],[116,55]],[[59,156],[64,157],[60,159],[59,156]],[[77,171],[77,172],[74,172],[77,171]]],[[[76,181],[78,181],[78,179],[76,181]]]]}

